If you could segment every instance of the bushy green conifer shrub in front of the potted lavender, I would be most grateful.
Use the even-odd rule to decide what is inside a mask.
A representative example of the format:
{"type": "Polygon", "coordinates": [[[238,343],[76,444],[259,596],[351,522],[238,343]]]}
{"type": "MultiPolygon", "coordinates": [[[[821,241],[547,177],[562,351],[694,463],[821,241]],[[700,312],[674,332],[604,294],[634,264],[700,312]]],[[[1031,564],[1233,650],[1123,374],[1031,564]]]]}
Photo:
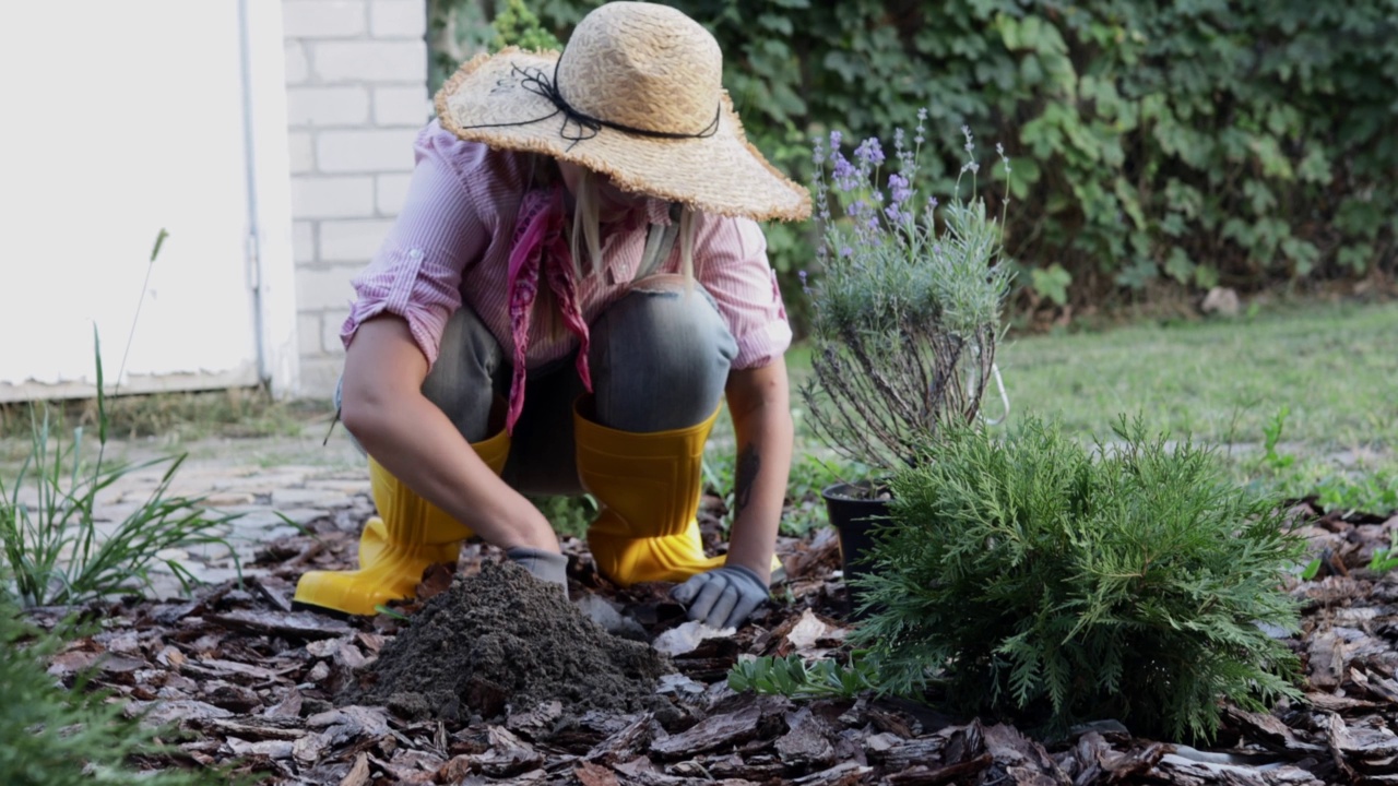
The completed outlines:
{"type": "Polygon", "coordinates": [[[945,681],[949,702],[1053,736],[1114,717],[1211,738],[1219,699],[1297,695],[1282,590],[1303,540],[1276,499],[1225,478],[1211,449],[1146,436],[1075,442],[1026,417],[997,438],[944,432],[893,478],[856,642],[882,689],[945,681]]]}

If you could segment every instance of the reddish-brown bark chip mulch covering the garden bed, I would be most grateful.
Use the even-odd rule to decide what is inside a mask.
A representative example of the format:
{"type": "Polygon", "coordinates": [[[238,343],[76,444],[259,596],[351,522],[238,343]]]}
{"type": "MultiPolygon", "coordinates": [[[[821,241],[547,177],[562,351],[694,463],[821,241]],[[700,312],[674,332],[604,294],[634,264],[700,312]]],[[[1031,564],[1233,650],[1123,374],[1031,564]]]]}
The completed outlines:
{"type": "MultiPolygon", "coordinates": [[[[788,580],[752,624],[688,652],[670,648],[675,655],[642,709],[568,696],[528,705],[509,689],[463,695],[450,712],[415,699],[362,701],[373,694],[362,689],[366,676],[405,628],[389,614],[337,620],[292,610],[302,572],[352,564],[355,533],[331,520],[266,545],[257,565],[267,573],[240,586],[206,587],[185,603],[87,607],[102,632],[73,642],[50,673],[71,684],[95,669],[92,685],[129,699],[131,713],[183,730],[178,745],[187,758],[165,766],[224,764],[266,783],[1398,785],[1398,573],[1367,569],[1374,550],[1390,545],[1398,515],[1321,516],[1314,501],[1295,512],[1314,519],[1309,534],[1321,558],[1316,578],[1290,589],[1306,599],[1303,634],[1289,642],[1303,659],[1306,701],[1271,715],[1227,708],[1208,751],[1138,738],[1113,722],[1046,748],[1012,726],[921,705],[733,692],[726,674],[740,655],[816,657],[842,646],[844,592],[829,530],[780,543],[788,580]],[[359,703],[344,701],[356,695],[359,703]]],[[[706,524],[713,529],[713,516],[706,524]]],[[[596,573],[580,543],[565,548],[575,557],[573,600],[594,620],[622,638],[682,638],[684,610],[665,586],[621,590],[596,573]]],[[[422,603],[498,561],[493,550],[468,545],[463,575],[432,572],[422,603]]],[[[36,617],[53,622],[70,611],[36,617]]],[[[521,683],[496,674],[492,684],[521,683]]]]}

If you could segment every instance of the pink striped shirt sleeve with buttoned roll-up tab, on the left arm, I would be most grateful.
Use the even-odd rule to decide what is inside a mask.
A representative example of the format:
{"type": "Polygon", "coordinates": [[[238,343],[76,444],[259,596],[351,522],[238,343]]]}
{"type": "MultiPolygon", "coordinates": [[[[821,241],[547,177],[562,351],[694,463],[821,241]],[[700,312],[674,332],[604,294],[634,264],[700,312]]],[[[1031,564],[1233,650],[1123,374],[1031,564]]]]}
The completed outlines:
{"type": "Polygon", "coordinates": [[[373,262],[354,278],[356,299],[340,329],[348,348],[359,326],[383,313],[403,317],[428,359],[436,362],[447,317],[461,308],[461,276],[488,246],[471,173],[488,154],[435,122],[418,134],[407,201],[373,262]]]}

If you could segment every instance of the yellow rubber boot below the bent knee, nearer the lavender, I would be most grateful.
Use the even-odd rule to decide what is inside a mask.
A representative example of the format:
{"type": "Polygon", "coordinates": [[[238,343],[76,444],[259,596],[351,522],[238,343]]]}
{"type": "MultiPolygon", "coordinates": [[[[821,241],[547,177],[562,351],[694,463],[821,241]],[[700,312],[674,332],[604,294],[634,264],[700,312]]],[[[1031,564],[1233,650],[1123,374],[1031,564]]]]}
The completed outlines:
{"type": "Polygon", "coordinates": [[[717,420],[689,428],[636,434],[573,413],[577,477],[601,503],[587,529],[597,569],[621,586],[682,582],[723,565],[699,540],[703,445],[717,420]]]}

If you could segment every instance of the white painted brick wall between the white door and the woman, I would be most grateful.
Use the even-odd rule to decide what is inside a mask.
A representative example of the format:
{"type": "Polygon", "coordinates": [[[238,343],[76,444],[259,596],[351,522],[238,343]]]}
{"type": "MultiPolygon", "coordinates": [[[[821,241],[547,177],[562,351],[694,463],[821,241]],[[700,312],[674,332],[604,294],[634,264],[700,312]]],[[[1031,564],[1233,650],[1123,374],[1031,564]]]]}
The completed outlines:
{"type": "Polygon", "coordinates": [[[431,117],[426,0],[281,0],[301,394],[334,390],[350,280],[407,194],[431,117]]]}

